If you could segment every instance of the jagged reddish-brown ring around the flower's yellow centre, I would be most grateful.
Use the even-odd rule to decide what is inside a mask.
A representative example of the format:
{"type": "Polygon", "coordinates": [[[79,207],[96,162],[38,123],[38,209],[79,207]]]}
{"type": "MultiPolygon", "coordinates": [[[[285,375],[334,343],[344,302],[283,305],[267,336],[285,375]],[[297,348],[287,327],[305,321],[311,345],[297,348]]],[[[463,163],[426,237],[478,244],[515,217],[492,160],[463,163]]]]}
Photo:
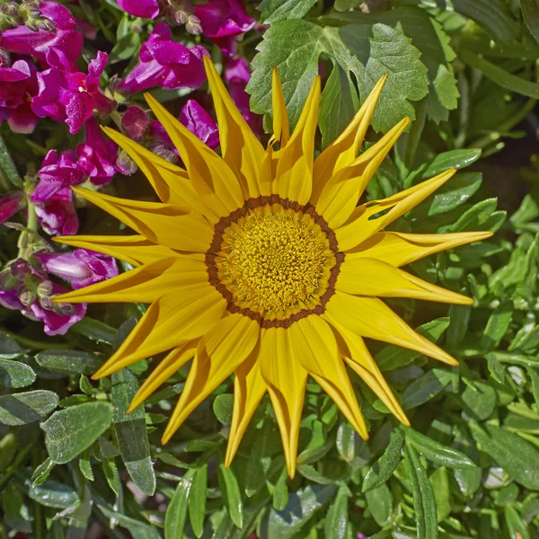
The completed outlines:
{"type": "Polygon", "coordinates": [[[307,203],[305,206],[301,206],[298,202],[290,199],[281,199],[278,195],[270,195],[265,197],[258,197],[256,199],[248,199],[245,201],[243,208],[235,209],[230,215],[221,217],[215,225],[215,233],[212,239],[212,242],[209,246],[208,252],[206,253],[206,266],[208,267],[208,278],[209,283],[216,288],[216,290],[225,298],[228,302],[226,310],[229,313],[239,313],[243,316],[251,318],[255,322],[259,323],[261,328],[270,329],[270,328],[288,328],[292,323],[306,318],[309,314],[323,314],[325,311],[325,305],[330,300],[331,296],[335,294],[335,283],[337,282],[337,277],[340,273],[340,264],[344,261],[344,252],[339,252],[337,237],[335,233],[331,230],[330,226],[323,218],[316,213],[314,206],[307,203]],[[285,209],[292,209],[297,213],[304,213],[310,216],[316,225],[320,226],[323,234],[325,234],[328,242],[330,243],[330,249],[334,253],[335,265],[330,270],[330,278],[328,279],[327,289],[320,296],[320,304],[316,305],[313,309],[302,309],[296,314],[288,316],[288,318],[279,320],[279,319],[268,319],[266,320],[260,313],[252,311],[249,307],[240,307],[239,305],[234,304],[234,296],[228,290],[227,287],[219,280],[218,269],[216,266],[216,258],[218,252],[221,251],[223,244],[223,234],[225,230],[237,222],[238,219],[247,215],[247,212],[251,209],[261,208],[266,205],[280,204],[285,209]]]}

